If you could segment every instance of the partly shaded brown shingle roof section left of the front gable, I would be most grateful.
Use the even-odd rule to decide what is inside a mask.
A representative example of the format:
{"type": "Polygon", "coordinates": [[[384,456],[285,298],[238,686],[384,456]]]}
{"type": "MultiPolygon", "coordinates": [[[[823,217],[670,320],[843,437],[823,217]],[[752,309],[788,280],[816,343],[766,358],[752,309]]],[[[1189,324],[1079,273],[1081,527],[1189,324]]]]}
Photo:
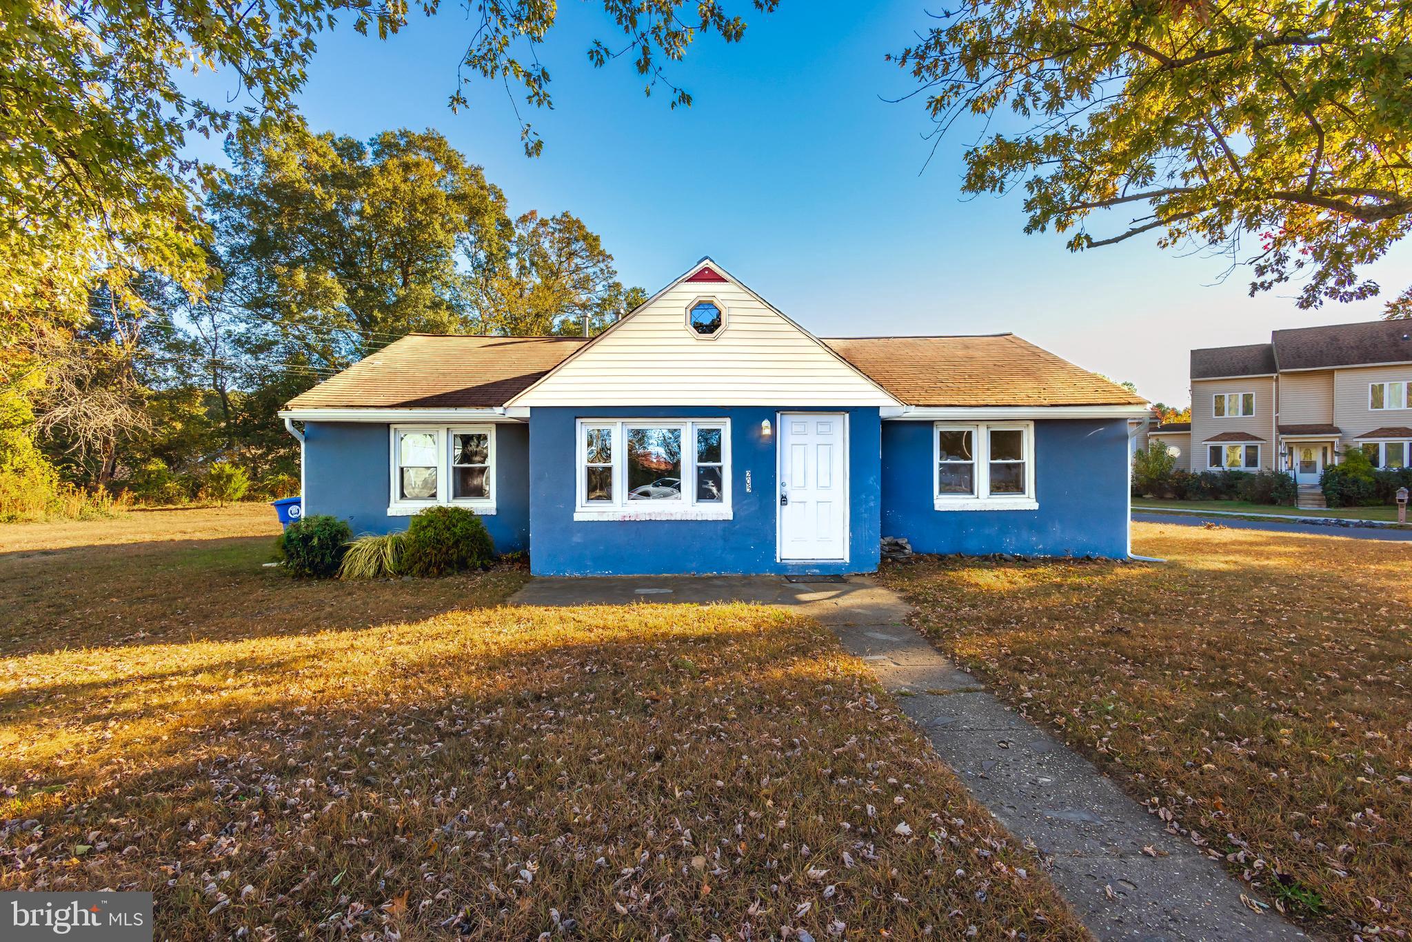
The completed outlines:
{"type": "Polygon", "coordinates": [[[288,408],[504,405],[583,343],[582,338],[412,333],[294,397],[288,408]]]}

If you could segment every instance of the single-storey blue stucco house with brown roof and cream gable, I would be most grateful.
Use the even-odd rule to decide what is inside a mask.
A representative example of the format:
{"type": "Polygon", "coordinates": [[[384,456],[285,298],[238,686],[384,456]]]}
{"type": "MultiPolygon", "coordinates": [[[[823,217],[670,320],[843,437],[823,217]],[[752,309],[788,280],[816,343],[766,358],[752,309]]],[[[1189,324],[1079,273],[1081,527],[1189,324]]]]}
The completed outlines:
{"type": "Polygon", "coordinates": [[[1128,554],[1145,403],[1008,333],[820,339],[710,258],[593,339],[412,335],[297,397],[304,513],[481,514],[537,575],[1128,554]]]}

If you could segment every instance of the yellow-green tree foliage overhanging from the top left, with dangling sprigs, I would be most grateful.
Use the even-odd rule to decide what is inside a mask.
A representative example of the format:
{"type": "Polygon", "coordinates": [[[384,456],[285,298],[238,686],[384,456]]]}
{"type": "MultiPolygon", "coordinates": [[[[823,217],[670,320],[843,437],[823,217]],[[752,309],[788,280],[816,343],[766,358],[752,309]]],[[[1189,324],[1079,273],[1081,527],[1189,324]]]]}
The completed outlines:
{"type": "MultiPolygon", "coordinates": [[[[777,1],[751,0],[757,10],[777,1]]],[[[435,16],[439,0],[418,7],[435,16]]],[[[681,59],[698,34],[733,42],[746,30],[719,0],[602,0],[602,10],[606,38],[590,59],[631,54],[647,89],[669,88],[674,107],[690,95],[662,62],[681,59]]],[[[387,37],[408,16],[407,3],[369,0],[0,0],[0,312],[73,325],[99,281],[123,295],[145,271],[199,290],[196,196],[212,168],[189,158],[188,137],[289,120],[323,31],[345,20],[387,37]],[[192,68],[220,71],[234,93],[189,95],[179,78],[192,68]]],[[[476,79],[507,92],[518,85],[531,106],[551,106],[537,51],[556,21],[554,3],[477,0],[456,20],[467,45],[452,107],[469,105],[476,79]]],[[[522,136],[538,153],[528,123],[522,136]]],[[[32,336],[34,326],[0,318],[0,342],[32,336]]]]}

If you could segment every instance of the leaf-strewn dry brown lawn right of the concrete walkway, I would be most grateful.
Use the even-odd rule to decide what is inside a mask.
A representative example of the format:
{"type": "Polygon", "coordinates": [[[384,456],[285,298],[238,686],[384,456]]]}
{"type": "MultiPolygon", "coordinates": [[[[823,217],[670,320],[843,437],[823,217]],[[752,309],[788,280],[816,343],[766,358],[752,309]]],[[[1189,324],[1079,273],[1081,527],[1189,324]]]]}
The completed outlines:
{"type": "Polygon", "coordinates": [[[1412,544],[1134,525],[1162,565],[931,559],[919,624],[1269,902],[1412,931],[1412,544]]]}

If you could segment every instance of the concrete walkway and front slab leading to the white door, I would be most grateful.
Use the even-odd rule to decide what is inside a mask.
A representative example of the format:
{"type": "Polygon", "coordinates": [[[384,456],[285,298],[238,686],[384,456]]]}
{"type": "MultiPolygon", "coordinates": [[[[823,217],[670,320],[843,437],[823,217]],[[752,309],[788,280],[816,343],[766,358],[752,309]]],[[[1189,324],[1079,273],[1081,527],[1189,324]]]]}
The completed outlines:
{"type": "Polygon", "coordinates": [[[798,606],[873,668],[971,795],[1052,861],[1051,877],[1100,939],[1302,939],[1124,795],[1087,760],[959,671],[871,579],[770,576],[534,579],[511,603],[758,602],[798,606]],[[1151,847],[1158,856],[1144,854],[1151,847]]]}

